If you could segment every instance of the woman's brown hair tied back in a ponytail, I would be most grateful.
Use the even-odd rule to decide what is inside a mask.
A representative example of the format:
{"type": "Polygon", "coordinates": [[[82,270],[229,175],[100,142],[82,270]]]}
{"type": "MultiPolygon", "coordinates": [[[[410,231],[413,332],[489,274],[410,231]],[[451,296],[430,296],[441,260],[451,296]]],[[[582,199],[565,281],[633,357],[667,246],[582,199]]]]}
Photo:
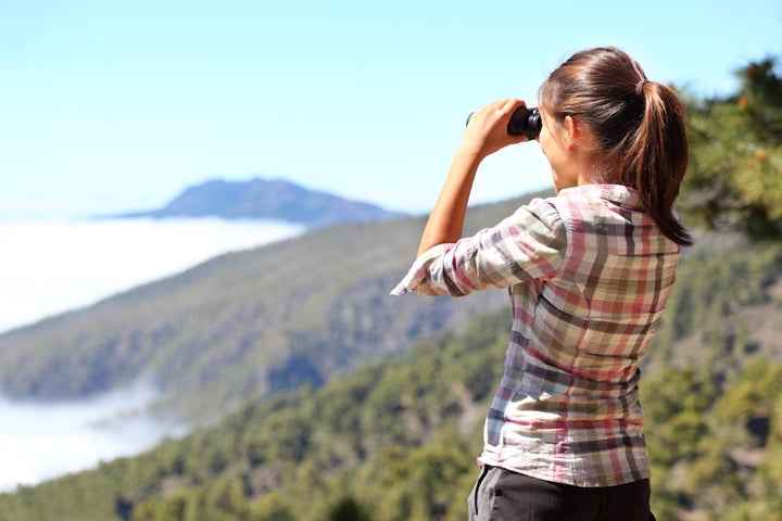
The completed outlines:
{"type": "Polygon", "coordinates": [[[689,151],[684,106],[669,87],[648,81],[626,52],[577,52],[541,86],[540,105],[554,118],[579,118],[597,141],[594,179],[635,189],[660,231],[681,245],[692,237],[673,214],[689,151]]]}

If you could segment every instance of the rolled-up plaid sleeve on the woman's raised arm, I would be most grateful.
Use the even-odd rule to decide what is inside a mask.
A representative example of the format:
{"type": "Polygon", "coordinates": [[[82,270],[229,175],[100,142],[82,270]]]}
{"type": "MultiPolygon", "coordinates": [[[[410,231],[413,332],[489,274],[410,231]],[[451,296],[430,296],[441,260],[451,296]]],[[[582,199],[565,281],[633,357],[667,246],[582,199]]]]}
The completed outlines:
{"type": "Polygon", "coordinates": [[[391,294],[463,296],[547,278],[563,266],[566,250],[562,216],[535,199],[493,228],[426,251],[391,294]]]}

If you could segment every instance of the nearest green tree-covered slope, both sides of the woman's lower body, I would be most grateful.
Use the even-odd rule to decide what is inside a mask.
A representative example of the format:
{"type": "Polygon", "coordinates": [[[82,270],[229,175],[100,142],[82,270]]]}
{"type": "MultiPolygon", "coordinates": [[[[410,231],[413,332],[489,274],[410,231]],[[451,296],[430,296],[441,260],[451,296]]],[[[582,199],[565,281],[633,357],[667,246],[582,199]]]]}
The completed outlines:
{"type": "MultiPolygon", "coordinates": [[[[642,369],[657,518],[782,519],[782,340],[757,327],[782,320],[782,243],[704,241],[680,272],[642,369]]],[[[142,456],[0,495],[0,519],[463,520],[508,327],[495,312],[142,456]]]]}

